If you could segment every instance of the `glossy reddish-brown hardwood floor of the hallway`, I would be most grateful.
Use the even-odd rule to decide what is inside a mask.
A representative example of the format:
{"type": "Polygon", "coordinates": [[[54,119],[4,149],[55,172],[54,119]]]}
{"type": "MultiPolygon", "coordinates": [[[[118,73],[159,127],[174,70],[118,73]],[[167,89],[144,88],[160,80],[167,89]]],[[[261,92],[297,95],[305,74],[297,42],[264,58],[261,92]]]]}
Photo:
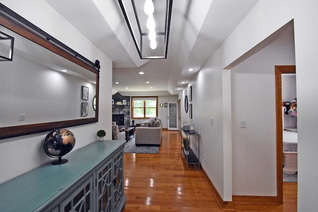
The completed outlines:
{"type": "MultiPolygon", "coordinates": [[[[162,131],[159,154],[124,154],[123,212],[221,212],[208,182],[181,157],[180,135],[162,131]]],[[[296,212],[297,183],[284,183],[283,205],[234,205],[237,212],[296,212]]]]}

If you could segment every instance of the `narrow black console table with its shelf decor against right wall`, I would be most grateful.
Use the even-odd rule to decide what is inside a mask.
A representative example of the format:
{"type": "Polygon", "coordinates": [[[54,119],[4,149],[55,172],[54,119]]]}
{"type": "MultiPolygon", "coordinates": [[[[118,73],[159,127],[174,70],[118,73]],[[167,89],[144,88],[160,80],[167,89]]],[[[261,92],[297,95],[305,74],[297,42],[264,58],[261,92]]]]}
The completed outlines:
{"type": "Polygon", "coordinates": [[[182,133],[185,135],[185,137],[181,136],[181,154],[183,154],[186,161],[186,169],[188,169],[188,163],[198,164],[198,168],[200,169],[200,135],[195,131],[194,133],[190,133],[189,130],[184,130],[183,127],[181,127],[181,130],[182,133]],[[190,147],[191,137],[193,136],[197,136],[198,138],[198,157],[195,155],[190,147]],[[186,139],[187,141],[184,141],[184,139],[186,139]]]}

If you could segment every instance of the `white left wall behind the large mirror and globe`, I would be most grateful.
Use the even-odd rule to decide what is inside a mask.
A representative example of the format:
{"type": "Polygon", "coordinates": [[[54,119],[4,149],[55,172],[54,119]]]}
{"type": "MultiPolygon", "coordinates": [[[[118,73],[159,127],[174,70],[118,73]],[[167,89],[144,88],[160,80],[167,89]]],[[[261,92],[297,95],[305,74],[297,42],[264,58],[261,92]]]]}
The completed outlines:
{"type": "MultiPolygon", "coordinates": [[[[70,23],[43,0],[1,0],[22,17],[60,40],[91,61],[100,61],[99,121],[68,128],[76,136],[74,150],[96,139],[98,129],[106,130],[106,138],[111,139],[111,60],[93,46],[70,23]],[[35,6],[36,5],[36,6],[35,6]],[[67,29],[67,33],[66,32],[67,29]],[[76,39],[74,39],[76,38],[76,39]]],[[[0,183],[36,168],[49,160],[42,147],[48,132],[37,133],[0,140],[0,183]],[[14,168],[12,168],[14,167],[14,168]]],[[[68,156],[65,156],[67,159],[68,156]]]]}

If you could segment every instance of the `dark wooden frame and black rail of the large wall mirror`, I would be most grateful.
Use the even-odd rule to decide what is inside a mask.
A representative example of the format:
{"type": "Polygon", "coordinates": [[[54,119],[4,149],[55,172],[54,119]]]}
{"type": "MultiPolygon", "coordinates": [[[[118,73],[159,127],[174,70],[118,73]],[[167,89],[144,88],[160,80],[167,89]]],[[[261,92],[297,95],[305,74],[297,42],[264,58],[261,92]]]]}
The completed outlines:
{"type": "Polygon", "coordinates": [[[98,121],[99,61],[91,62],[0,3],[0,25],[96,74],[95,117],[0,127],[0,139],[78,126],[98,121]]]}

